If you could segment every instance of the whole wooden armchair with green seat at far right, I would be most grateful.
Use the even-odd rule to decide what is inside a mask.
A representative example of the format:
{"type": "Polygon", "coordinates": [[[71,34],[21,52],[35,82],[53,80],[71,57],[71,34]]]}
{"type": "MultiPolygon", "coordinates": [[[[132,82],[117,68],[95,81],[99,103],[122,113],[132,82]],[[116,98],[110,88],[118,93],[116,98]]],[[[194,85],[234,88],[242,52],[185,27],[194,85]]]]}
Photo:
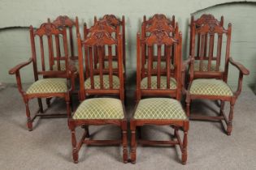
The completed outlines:
{"type": "Polygon", "coordinates": [[[222,125],[227,126],[226,133],[230,135],[234,105],[241,93],[243,75],[249,74],[249,70],[240,63],[234,62],[230,57],[232,25],[229,23],[228,29],[223,28],[223,17],[219,22],[212,15],[202,15],[197,22],[192,22],[191,29],[191,56],[187,62],[189,64],[189,87],[186,92],[187,116],[194,120],[224,122],[225,124],[222,125]],[[200,23],[200,26],[196,23],[200,23]],[[199,44],[196,43],[196,36],[197,42],[200,40],[199,44]],[[208,40],[207,43],[205,43],[206,40],[208,40]],[[197,56],[195,49],[197,49],[197,56]],[[222,49],[224,49],[224,53],[222,53],[222,49]],[[221,68],[221,62],[223,62],[223,68],[221,68]],[[230,64],[239,70],[238,87],[235,92],[227,83],[230,64]],[[190,103],[195,99],[219,100],[219,114],[216,117],[190,114],[190,103]],[[230,103],[228,117],[223,112],[225,101],[230,103]]]}

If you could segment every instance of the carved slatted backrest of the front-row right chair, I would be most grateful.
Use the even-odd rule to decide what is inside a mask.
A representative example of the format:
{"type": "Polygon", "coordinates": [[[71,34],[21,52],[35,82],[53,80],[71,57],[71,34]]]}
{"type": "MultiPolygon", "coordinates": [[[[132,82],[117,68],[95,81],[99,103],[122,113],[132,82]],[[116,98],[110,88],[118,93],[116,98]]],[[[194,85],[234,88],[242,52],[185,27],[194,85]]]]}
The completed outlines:
{"type": "MultiPolygon", "coordinates": [[[[176,28],[176,32],[178,28],[176,28]]],[[[176,33],[175,36],[169,36],[168,32],[164,30],[154,30],[151,32],[150,36],[141,39],[140,33],[137,33],[137,91],[144,91],[143,93],[149,93],[149,95],[164,95],[172,96],[177,100],[180,100],[181,97],[181,45],[182,45],[182,36],[181,33],[176,33]],[[147,88],[141,89],[141,47],[147,46],[148,50],[148,67],[146,69],[147,74],[147,88]],[[154,57],[154,50],[156,49],[157,53],[157,69],[152,69],[152,62],[154,57]],[[174,50],[174,56],[171,57],[171,50],[174,50]],[[163,71],[161,68],[161,56],[164,51],[167,51],[166,56],[166,68],[163,71]],[[174,74],[171,74],[171,60],[174,60],[174,74]],[[151,76],[155,75],[157,77],[157,87],[153,88],[151,84],[151,76]],[[166,76],[165,82],[161,82],[161,76],[166,76]],[[176,88],[170,88],[171,78],[176,80],[176,88]],[[166,88],[161,88],[161,84],[165,83],[166,88]]]]}

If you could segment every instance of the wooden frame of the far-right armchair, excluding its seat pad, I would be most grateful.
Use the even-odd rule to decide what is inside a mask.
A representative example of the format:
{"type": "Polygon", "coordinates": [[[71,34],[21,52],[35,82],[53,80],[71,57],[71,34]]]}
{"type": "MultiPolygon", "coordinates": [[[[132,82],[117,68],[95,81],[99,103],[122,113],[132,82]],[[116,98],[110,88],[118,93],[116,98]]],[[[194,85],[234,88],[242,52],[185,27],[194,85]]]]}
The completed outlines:
{"type": "MultiPolygon", "coordinates": [[[[202,15],[200,19],[197,19],[197,21],[194,21],[192,18],[191,22],[191,45],[190,45],[190,53],[191,56],[189,56],[189,60],[186,62],[189,64],[189,87],[191,87],[191,83],[193,82],[193,79],[222,79],[223,82],[227,83],[228,80],[228,66],[231,64],[232,66],[235,66],[239,70],[239,79],[238,79],[238,87],[236,92],[233,92],[233,96],[207,96],[207,95],[192,95],[189,94],[189,90],[186,91],[186,113],[187,116],[190,117],[192,120],[205,120],[205,121],[221,121],[224,122],[227,125],[226,133],[228,135],[232,132],[232,119],[233,119],[233,109],[234,104],[236,103],[237,97],[241,93],[241,87],[242,87],[242,80],[243,75],[248,75],[249,70],[245,68],[245,66],[242,66],[238,62],[234,62],[232,57],[230,57],[230,44],[231,44],[231,31],[232,31],[232,25],[231,23],[228,23],[228,29],[223,28],[223,17],[221,17],[221,21],[217,21],[213,15],[202,15]],[[218,35],[218,44],[217,44],[217,56],[213,56],[213,46],[214,46],[214,35],[218,35]],[[204,48],[200,49],[199,56],[195,56],[195,36],[201,35],[201,42],[200,45],[204,45],[204,48]],[[210,35],[210,44],[209,44],[209,56],[206,57],[206,53],[204,50],[206,50],[207,43],[204,44],[204,41],[206,40],[206,35],[210,35]],[[227,36],[227,45],[226,45],[226,53],[225,53],[225,63],[224,63],[224,70],[219,70],[220,65],[220,57],[221,57],[221,47],[222,47],[222,40],[223,35],[227,36]],[[199,60],[200,61],[200,68],[198,71],[193,70],[194,61],[199,60]],[[207,71],[202,70],[202,61],[207,60],[208,66],[207,71]],[[210,71],[210,66],[212,60],[216,60],[216,66],[215,71],[210,71]],[[203,115],[190,115],[190,103],[191,100],[194,99],[208,99],[208,100],[220,100],[220,110],[219,115],[217,117],[210,117],[210,116],[203,116],[203,115]],[[230,102],[230,111],[228,114],[228,117],[223,112],[224,108],[224,102],[229,101],[230,102]]],[[[223,124],[222,124],[223,125],[223,124]]],[[[223,126],[224,127],[224,126],[223,126]]]]}

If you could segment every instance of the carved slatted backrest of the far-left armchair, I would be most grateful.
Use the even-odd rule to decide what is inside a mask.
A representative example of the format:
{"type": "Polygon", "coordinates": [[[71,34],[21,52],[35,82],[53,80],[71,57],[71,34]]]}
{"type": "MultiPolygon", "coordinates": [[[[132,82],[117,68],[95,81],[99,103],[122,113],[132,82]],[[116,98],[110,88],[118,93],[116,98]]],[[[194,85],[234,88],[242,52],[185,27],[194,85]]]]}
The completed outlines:
{"type": "Polygon", "coordinates": [[[61,61],[65,61],[66,68],[69,65],[66,28],[56,28],[53,23],[42,23],[37,29],[30,26],[30,40],[35,80],[38,74],[46,77],[68,76],[68,69],[60,69],[61,61]],[[57,70],[53,70],[54,62],[57,62],[57,70]]]}

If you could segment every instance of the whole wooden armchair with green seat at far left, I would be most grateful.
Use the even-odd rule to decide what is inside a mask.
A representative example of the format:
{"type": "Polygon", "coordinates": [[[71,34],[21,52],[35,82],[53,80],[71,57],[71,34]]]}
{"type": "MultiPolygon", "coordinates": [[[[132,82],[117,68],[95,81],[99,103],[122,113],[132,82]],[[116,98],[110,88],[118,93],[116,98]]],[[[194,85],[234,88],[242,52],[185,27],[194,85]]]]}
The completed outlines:
{"type": "MultiPolygon", "coordinates": [[[[28,62],[23,62],[9,70],[9,74],[15,74],[16,76],[18,89],[26,106],[28,130],[33,130],[33,121],[36,117],[70,117],[70,93],[73,90],[73,86],[70,87],[68,82],[71,81],[70,79],[74,79],[73,73],[76,72],[76,68],[70,64],[68,59],[67,35],[65,28],[58,29],[52,23],[42,23],[41,27],[38,29],[34,29],[30,26],[30,40],[32,57],[29,58],[28,62]],[[54,54],[54,37],[56,41],[56,37],[63,38],[63,55],[61,53],[57,53],[57,56],[54,54]],[[40,48],[37,48],[37,44],[40,44],[40,48]],[[48,55],[45,53],[46,49],[48,49],[48,55]],[[56,62],[58,66],[60,65],[61,59],[64,59],[68,69],[53,70],[52,61],[54,57],[57,58],[56,62]],[[33,64],[35,82],[25,91],[22,87],[20,70],[31,63],[33,64]],[[40,77],[43,79],[40,79],[40,77]],[[66,101],[67,113],[45,113],[41,98],[52,97],[60,97],[66,101]],[[33,98],[37,98],[39,109],[37,113],[31,117],[28,101],[33,98]]],[[[59,48],[60,47],[58,46],[57,49],[59,48]]]]}

